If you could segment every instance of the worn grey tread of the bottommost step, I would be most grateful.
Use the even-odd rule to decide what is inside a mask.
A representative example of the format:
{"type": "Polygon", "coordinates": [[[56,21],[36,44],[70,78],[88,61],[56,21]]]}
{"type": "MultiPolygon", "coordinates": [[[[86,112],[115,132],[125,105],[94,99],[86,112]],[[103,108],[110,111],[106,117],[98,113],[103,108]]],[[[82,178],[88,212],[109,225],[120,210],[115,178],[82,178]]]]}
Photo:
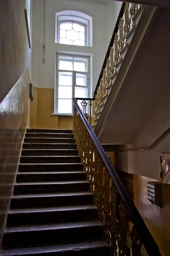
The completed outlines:
{"type": "Polygon", "coordinates": [[[37,254],[37,253],[50,253],[50,252],[66,252],[66,251],[77,251],[83,250],[87,248],[95,248],[95,247],[108,247],[104,240],[99,241],[85,241],[76,244],[61,244],[54,246],[45,246],[45,247],[31,247],[31,248],[23,248],[23,249],[12,249],[12,250],[2,250],[2,256],[13,256],[13,255],[29,255],[29,254],[37,254]]]}

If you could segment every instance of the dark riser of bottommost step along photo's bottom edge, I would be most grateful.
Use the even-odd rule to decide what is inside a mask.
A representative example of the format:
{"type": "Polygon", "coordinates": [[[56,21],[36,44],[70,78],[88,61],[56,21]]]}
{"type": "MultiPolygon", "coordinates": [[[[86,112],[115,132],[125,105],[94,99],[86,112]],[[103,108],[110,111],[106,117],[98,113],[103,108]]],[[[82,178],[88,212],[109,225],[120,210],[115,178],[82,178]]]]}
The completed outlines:
{"type": "MultiPolygon", "coordinates": [[[[51,251],[51,252],[46,252],[46,253],[40,253],[40,252],[36,252],[36,256],[53,256],[53,255],[57,255],[57,256],[87,256],[87,255],[94,255],[94,256],[109,256],[109,248],[108,247],[101,247],[101,248],[85,248],[82,250],[65,250],[65,251],[51,251]]],[[[25,254],[24,254],[25,255],[25,254]]],[[[26,254],[29,256],[35,256],[35,253],[29,253],[26,254]]],[[[6,256],[8,256],[6,254],[6,256]]],[[[9,256],[18,256],[18,254],[10,254],[9,256]]]]}

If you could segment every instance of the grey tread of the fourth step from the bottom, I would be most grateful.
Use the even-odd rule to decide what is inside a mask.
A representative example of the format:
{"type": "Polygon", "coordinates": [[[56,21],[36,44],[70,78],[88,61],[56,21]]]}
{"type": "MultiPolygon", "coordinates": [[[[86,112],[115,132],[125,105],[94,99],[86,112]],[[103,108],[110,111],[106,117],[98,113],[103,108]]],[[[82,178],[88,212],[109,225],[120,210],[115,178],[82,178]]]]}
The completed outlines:
{"type": "Polygon", "coordinates": [[[74,195],[93,195],[90,191],[82,192],[65,192],[65,193],[48,193],[48,194],[25,194],[25,195],[13,195],[12,198],[46,198],[46,197],[62,197],[62,196],[74,196],[74,195]]]}

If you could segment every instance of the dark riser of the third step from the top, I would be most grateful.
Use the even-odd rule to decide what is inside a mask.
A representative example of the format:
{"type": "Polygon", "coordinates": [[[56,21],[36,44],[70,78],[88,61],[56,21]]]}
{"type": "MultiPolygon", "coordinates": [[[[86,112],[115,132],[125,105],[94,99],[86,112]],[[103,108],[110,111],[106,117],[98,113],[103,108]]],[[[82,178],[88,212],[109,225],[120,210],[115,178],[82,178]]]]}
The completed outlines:
{"type": "Polygon", "coordinates": [[[75,143],[75,139],[64,138],[24,138],[24,143],[75,143]]]}

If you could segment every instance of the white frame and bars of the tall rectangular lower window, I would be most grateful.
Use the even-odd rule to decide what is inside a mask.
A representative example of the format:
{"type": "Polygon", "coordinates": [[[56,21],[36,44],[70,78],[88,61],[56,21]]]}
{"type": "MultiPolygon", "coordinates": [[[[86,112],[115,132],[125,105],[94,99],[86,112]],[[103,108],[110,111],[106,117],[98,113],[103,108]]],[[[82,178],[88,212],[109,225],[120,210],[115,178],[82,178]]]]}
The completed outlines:
{"type": "Polygon", "coordinates": [[[56,52],[56,70],[55,70],[55,106],[54,106],[54,113],[57,115],[64,115],[64,116],[72,116],[73,115],[73,102],[72,102],[72,113],[58,113],[58,78],[59,72],[68,72],[72,73],[72,98],[75,97],[75,87],[84,87],[87,88],[87,98],[90,96],[90,57],[86,55],[74,55],[74,54],[61,54],[56,52]],[[59,56],[63,57],[71,57],[73,59],[74,63],[74,58],[85,58],[87,59],[87,71],[75,71],[75,70],[59,70],[59,56]],[[76,73],[78,74],[85,74],[87,76],[87,86],[81,86],[81,85],[76,85],[75,84],[75,79],[76,79],[76,73]]]}

